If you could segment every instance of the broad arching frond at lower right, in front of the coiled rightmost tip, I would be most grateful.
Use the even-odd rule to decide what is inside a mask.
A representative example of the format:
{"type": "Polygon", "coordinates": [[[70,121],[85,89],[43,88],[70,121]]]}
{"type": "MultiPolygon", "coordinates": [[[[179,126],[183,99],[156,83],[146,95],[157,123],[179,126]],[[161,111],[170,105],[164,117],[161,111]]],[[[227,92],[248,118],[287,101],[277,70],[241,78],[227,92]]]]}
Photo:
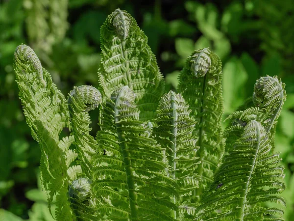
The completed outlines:
{"type": "Polygon", "coordinates": [[[256,120],[250,121],[224,156],[215,181],[196,208],[197,221],[282,221],[282,208],[267,208],[264,202],[285,206],[278,196],[285,185],[284,167],[279,154],[271,154],[266,129],[256,120]]]}

